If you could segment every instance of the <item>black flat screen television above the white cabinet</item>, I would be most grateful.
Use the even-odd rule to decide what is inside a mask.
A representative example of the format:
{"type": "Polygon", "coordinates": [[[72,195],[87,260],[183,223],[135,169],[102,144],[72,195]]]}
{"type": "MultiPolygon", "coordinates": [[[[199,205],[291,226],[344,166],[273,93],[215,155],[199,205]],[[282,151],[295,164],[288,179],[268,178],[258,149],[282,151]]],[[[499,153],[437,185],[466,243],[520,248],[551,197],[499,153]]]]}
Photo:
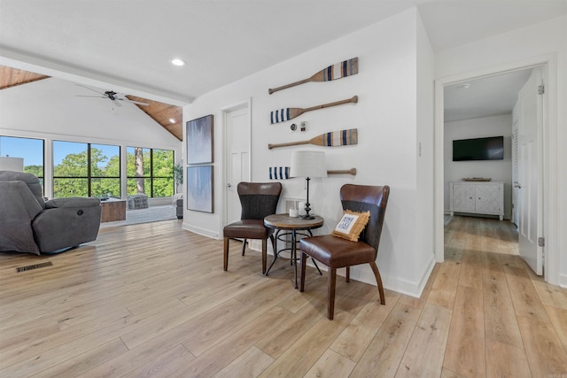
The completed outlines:
{"type": "Polygon", "coordinates": [[[453,141],[453,161],[503,160],[504,137],[461,139],[453,141]]]}

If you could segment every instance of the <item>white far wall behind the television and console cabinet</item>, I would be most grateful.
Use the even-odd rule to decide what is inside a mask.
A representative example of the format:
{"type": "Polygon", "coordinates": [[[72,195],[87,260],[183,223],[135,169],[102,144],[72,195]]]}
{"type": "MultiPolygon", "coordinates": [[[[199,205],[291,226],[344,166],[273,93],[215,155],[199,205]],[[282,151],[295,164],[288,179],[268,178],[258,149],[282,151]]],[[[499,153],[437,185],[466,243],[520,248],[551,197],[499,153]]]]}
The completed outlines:
{"type": "Polygon", "coordinates": [[[465,177],[490,177],[504,181],[504,217],[512,211],[512,114],[457,120],[445,123],[445,212],[449,212],[449,182],[465,177]],[[453,141],[459,139],[504,136],[504,159],[486,161],[453,161],[453,141]]]}

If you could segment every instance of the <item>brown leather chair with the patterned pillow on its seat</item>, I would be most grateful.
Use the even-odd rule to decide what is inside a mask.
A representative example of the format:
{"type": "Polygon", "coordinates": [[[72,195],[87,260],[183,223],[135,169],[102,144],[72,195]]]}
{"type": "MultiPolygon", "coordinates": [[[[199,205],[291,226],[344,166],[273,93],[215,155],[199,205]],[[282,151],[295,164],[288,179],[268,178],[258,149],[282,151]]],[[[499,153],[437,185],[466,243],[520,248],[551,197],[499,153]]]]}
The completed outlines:
{"type": "MultiPolygon", "coordinates": [[[[317,235],[301,239],[299,248],[301,250],[301,275],[300,291],[305,289],[305,271],[307,257],[315,258],[329,267],[328,289],[327,289],[327,317],[332,320],[335,311],[335,286],[337,280],[337,269],[346,267],[346,282],[350,281],[350,266],[369,264],[376,277],[380,303],[385,305],[384,287],[376,264],[378,244],[384,225],[384,213],[390,187],[367,186],[346,184],[340,189],[340,200],[345,213],[364,214],[368,223],[361,225],[360,235],[345,235],[341,237],[333,230],[332,235],[317,235]],[[369,214],[369,218],[368,218],[369,214]],[[353,239],[358,241],[353,242],[353,239]]],[[[351,220],[353,217],[350,217],[351,220]]],[[[345,218],[343,218],[345,219],[345,218]]],[[[341,222],[339,222],[339,225],[341,222]]],[[[346,221],[345,223],[348,223],[346,221]]],[[[337,228],[336,228],[337,229],[337,228]]],[[[359,230],[360,231],[360,230],[359,230]]]]}

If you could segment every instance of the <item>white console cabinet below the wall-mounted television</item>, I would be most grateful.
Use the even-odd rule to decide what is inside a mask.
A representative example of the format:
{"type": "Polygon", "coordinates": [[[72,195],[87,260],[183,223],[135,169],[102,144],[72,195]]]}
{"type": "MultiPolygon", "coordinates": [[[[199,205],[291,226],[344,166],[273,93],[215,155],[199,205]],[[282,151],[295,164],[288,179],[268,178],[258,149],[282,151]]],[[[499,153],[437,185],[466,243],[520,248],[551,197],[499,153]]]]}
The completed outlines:
{"type": "Polygon", "coordinates": [[[449,182],[449,211],[498,215],[504,219],[504,181],[449,182]]]}

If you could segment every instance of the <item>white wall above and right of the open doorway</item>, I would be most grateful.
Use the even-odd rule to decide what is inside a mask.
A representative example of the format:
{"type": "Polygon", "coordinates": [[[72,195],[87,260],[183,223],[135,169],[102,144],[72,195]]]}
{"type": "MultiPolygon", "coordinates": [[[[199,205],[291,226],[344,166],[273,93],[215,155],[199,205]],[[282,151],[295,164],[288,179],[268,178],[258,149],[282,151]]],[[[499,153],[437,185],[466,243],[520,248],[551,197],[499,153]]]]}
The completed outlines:
{"type": "Polygon", "coordinates": [[[567,16],[523,27],[436,55],[436,78],[494,73],[548,61],[548,128],[544,203],[554,209],[547,221],[546,249],[551,283],[567,287],[567,16]]]}

